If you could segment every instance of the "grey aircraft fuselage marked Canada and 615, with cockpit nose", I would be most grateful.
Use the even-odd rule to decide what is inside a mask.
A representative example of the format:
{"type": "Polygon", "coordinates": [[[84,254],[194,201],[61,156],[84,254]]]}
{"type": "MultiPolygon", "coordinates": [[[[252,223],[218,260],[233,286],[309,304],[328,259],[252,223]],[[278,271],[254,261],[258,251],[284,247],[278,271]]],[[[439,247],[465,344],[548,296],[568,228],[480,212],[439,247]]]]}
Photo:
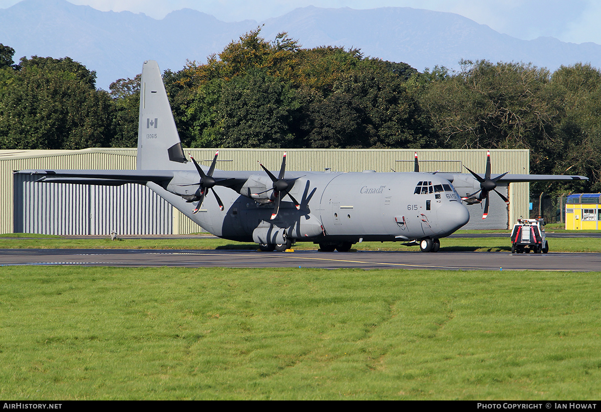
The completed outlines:
{"type": "MultiPolygon", "coordinates": [[[[227,176],[227,172],[222,174],[227,176]]],[[[177,175],[167,189],[179,196],[165,197],[212,234],[257,243],[281,243],[282,238],[318,243],[409,243],[448,236],[469,220],[451,183],[432,174],[290,172],[287,178],[294,180],[290,194],[298,199],[300,208],[282,198],[273,220],[270,194],[252,196],[270,187],[262,174],[249,175],[253,187],[238,192],[216,186],[228,205],[223,211],[213,196],[207,196],[199,213],[192,214],[191,205],[181,198],[184,186],[177,183],[177,175]]],[[[157,185],[150,187],[165,195],[157,185]]]]}

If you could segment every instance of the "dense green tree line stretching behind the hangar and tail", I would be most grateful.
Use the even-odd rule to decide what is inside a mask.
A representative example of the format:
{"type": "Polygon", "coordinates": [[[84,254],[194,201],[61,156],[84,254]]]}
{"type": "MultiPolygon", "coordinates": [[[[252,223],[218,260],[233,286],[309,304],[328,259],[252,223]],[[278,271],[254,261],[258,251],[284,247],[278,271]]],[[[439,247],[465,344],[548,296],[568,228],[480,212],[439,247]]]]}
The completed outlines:
{"type": "MultiPolygon", "coordinates": [[[[107,92],[70,58],[13,54],[0,44],[0,148],[136,146],[139,76],[107,92]]],[[[587,175],[578,189],[601,190],[599,69],[460,65],[418,73],[257,29],[163,78],[188,147],[528,148],[531,172],[587,175]]]]}

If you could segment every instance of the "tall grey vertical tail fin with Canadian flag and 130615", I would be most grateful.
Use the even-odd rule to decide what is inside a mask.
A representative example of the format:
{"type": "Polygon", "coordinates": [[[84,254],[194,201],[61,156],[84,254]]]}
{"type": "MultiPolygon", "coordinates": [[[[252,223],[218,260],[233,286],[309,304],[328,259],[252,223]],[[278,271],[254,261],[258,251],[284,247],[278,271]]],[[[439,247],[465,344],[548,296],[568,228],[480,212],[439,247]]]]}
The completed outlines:
{"type": "Polygon", "coordinates": [[[159,65],[154,60],[145,61],[140,82],[136,168],[183,169],[184,163],[186,156],[177,134],[159,65]]]}

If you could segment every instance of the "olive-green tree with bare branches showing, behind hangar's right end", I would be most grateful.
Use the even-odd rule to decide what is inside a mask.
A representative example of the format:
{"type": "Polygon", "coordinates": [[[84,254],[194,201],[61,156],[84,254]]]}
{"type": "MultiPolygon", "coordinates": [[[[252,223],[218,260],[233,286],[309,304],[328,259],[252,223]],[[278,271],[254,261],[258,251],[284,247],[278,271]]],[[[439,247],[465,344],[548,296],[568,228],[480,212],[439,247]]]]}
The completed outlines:
{"type": "Polygon", "coordinates": [[[560,111],[549,71],[523,63],[462,61],[462,71],[432,78],[421,105],[449,148],[528,148],[532,171],[549,172],[560,111]]]}

